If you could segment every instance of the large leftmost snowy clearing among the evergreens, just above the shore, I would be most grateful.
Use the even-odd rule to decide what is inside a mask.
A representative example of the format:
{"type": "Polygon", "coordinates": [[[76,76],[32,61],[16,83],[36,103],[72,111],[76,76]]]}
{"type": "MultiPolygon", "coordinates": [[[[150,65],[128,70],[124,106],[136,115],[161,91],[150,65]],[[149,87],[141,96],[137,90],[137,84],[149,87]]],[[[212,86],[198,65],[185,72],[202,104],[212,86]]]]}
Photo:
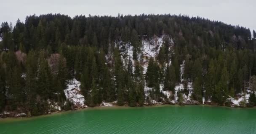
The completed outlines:
{"type": "Polygon", "coordinates": [[[78,80],[69,80],[67,88],[64,90],[66,98],[69,99],[78,108],[87,107],[84,104],[85,97],[81,94],[81,82],[78,80]]]}

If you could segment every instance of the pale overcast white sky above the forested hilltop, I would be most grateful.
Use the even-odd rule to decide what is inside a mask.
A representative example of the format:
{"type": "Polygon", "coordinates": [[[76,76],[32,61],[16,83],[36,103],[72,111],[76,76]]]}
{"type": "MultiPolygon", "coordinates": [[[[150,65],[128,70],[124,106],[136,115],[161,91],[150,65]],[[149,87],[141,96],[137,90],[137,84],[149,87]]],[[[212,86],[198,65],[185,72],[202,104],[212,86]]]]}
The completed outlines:
{"type": "Polygon", "coordinates": [[[27,15],[186,14],[256,30],[256,0],[0,0],[0,23],[27,15]],[[254,6],[254,7],[253,7],[254,6]]]}

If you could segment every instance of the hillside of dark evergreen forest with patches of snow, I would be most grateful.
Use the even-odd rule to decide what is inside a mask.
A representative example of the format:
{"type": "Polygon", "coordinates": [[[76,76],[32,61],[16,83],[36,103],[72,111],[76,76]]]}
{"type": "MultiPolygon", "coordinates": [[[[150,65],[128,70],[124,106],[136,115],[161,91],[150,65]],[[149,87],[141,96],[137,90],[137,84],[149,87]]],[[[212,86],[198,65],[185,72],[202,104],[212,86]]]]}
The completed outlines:
{"type": "Polygon", "coordinates": [[[0,49],[1,112],[35,116],[53,104],[68,110],[76,105],[65,90],[72,80],[92,107],[113,101],[256,106],[256,33],[219,21],[32,15],[1,24],[0,49]]]}

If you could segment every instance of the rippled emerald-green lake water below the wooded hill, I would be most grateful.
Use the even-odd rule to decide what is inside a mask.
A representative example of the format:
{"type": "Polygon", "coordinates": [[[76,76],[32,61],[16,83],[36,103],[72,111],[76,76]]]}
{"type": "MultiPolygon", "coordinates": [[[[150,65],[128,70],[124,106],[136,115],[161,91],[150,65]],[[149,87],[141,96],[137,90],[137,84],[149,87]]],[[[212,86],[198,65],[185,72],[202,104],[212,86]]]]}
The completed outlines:
{"type": "Polygon", "coordinates": [[[256,134],[255,108],[104,108],[0,120],[0,134],[256,134]]]}

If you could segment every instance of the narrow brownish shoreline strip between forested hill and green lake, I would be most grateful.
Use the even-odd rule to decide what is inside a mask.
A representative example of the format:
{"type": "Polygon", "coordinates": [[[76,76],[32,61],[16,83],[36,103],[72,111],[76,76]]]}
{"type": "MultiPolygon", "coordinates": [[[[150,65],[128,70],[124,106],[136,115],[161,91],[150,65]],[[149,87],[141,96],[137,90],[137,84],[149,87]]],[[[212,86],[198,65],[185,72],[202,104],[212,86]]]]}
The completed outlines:
{"type": "Polygon", "coordinates": [[[151,105],[151,106],[136,106],[136,107],[131,107],[128,105],[124,106],[118,106],[118,105],[113,105],[113,106],[96,106],[96,107],[86,107],[86,108],[79,108],[76,110],[68,110],[68,111],[57,111],[53,112],[50,114],[44,114],[44,115],[39,115],[39,116],[31,116],[31,117],[6,117],[6,118],[0,118],[0,123],[2,122],[11,122],[11,121],[27,121],[27,120],[33,120],[33,119],[38,119],[38,118],[44,118],[44,117],[49,117],[49,116],[56,116],[56,115],[61,115],[61,114],[66,114],[66,113],[72,113],[72,112],[79,112],[79,111],[90,111],[90,110],[106,110],[106,109],[128,109],[128,108],[157,108],[157,107],[166,107],[166,106],[206,106],[206,107],[216,107],[216,108],[231,108],[231,109],[253,109],[256,107],[230,107],[230,106],[218,106],[218,105],[210,105],[210,104],[199,104],[199,105],[188,105],[185,104],[183,106],[175,104],[156,104],[156,105],[151,105]]]}

